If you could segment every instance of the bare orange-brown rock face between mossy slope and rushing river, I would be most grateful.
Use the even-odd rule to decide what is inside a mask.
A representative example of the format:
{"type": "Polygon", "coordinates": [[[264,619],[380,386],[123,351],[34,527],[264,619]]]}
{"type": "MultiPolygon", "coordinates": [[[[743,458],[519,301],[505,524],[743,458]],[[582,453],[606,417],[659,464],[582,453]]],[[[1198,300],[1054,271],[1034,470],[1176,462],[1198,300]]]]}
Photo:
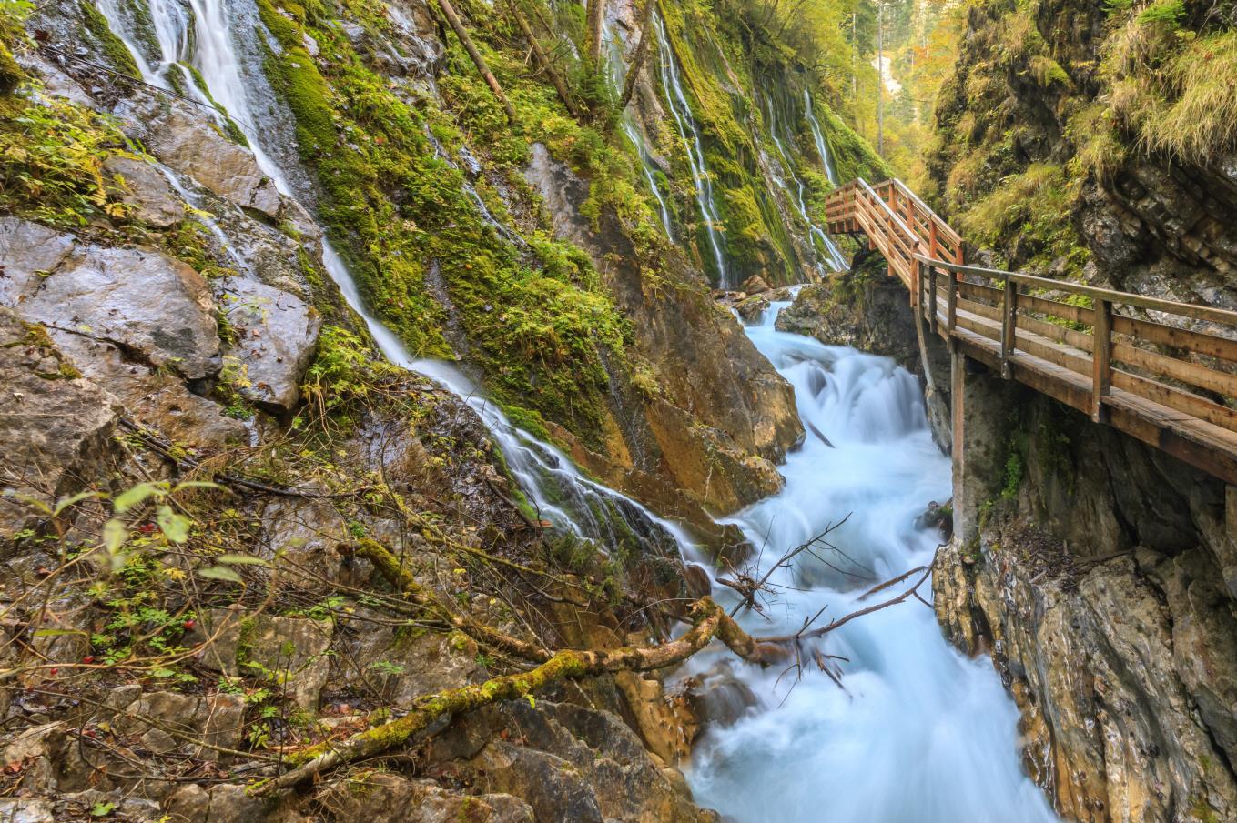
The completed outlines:
{"type": "MultiPolygon", "coordinates": [[[[615,409],[621,445],[601,456],[609,468],[590,465],[590,471],[626,489],[638,488],[640,475],[667,477],[716,512],[732,512],[779,488],[773,462],[803,434],[789,384],[673,248],[667,263],[684,287],[673,297],[649,295],[617,217],[602,215],[600,231],[594,231],[579,210],[588,184],[544,146],[533,146],[526,177],[542,195],[555,235],[578,243],[611,273],[611,290],[632,319],[640,352],[658,366],[658,397],[635,397],[628,408],[615,409]],[[701,470],[715,462],[715,471],[701,470]]],[[[672,508],[667,500],[653,502],[662,510],[672,508]]]]}

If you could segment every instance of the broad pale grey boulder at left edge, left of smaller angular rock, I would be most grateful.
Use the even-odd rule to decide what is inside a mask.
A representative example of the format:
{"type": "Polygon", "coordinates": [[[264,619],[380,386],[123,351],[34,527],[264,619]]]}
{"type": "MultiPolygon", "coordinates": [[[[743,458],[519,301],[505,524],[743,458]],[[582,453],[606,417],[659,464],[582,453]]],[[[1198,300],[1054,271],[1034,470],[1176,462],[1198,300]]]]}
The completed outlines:
{"type": "Polygon", "coordinates": [[[4,303],[25,319],[108,340],[188,379],[219,371],[219,332],[205,279],[152,248],[108,248],[6,225],[4,303]],[[41,240],[42,251],[26,242],[41,240]]]}

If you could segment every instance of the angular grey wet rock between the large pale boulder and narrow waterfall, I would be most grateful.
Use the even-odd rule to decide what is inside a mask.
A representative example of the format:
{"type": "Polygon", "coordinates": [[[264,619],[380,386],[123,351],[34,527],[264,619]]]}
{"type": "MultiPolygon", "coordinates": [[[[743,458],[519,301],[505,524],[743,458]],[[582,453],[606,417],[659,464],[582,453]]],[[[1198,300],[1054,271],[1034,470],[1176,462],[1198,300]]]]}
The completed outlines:
{"type": "Polygon", "coordinates": [[[230,277],[220,288],[235,334],[225,356],[245,369],[241,394],[289,410],[301,399],[301,378],[317,351],[322,316],[299,298],[256,281],[230,277]]]}

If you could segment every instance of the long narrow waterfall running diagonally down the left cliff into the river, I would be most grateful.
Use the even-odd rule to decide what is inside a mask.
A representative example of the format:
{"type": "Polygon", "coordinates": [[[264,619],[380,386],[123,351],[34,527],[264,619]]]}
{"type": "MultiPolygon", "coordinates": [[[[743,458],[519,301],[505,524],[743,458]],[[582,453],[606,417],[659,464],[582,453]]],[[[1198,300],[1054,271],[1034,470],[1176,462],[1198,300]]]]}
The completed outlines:
{"type": "MultiPolygon", "coordinates": [[[[157,20],[156,25],[166,25],[171,30],[179,22],[173,11],[174,4],[167,0],[146,0],[146,2],[151,16],[157,20]]],[[[198,51],[189,56],[193,65],[200,72],[210,95],[229,111],[239,115],[236,124],[249,141],[262,173],[275,180],[281,194],[294,199],[292,187],[288,184],[289,169],[275,162],[262,145],[267,135],[254,126],[252,100],[249,98],[249,85],[245,83],[235,41],[228,25],[225,0],[189,0],[189,7],[193,20],[188,22],[195,33],[193,42],[198,46],[198,51]]],[[[129,25],[126,17],[118,14],[113,4],[99,0],[99,10],[114,33],[125,42],[132,42],[126,28],[129,25]]],[[[145,75],[147,82],[158,78],[160,69],[151,69],[147,64],[142,70],[151,72],[145,75]]],[[[435,148],[445,154],[442,146],[435,148]]],[[[447,159],[450,162],[449,157],[447,159]]],[[[468,185],[466,180],[464,185],[468,185]]],[[[482,219],[490,221],[500,234],[510,231],[485,209],[475,190],[471,194],[482,219]]],[[[323,264],[328,274],[339,287],[349,306],[365,321],[382,355],[397,366],[440,382],[477,412],[538,514],[564,531],[597,540],[604,545],[618,545],[626,538],[635,536],[672,556],[675,552],[695,555],[694,544],[678,524],[653,514],[618,492],[585,478],[562,451],[513,425],[455,367],[413,358],[400,339],[365,308],[355,281],[325,232],[322,246],[323,264]]]]}

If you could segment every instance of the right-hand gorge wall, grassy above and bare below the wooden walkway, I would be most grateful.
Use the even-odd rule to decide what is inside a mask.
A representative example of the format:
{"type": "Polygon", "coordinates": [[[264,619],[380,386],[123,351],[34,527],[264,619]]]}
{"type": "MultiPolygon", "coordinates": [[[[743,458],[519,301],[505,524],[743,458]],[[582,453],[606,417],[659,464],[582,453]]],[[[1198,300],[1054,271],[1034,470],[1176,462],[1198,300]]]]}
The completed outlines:
{"type": "MultiPolygon", "coordinates": [[[[1232,308],[1232,25],[1231,4],[974,5],[928,157],[934,205],[991,250],[972,258],[1232,308]]],[[[1230,819],[1233,489],[954,368],[936,609],[992,654],[1032,774],[1069,819],[1230,819]]]]}

